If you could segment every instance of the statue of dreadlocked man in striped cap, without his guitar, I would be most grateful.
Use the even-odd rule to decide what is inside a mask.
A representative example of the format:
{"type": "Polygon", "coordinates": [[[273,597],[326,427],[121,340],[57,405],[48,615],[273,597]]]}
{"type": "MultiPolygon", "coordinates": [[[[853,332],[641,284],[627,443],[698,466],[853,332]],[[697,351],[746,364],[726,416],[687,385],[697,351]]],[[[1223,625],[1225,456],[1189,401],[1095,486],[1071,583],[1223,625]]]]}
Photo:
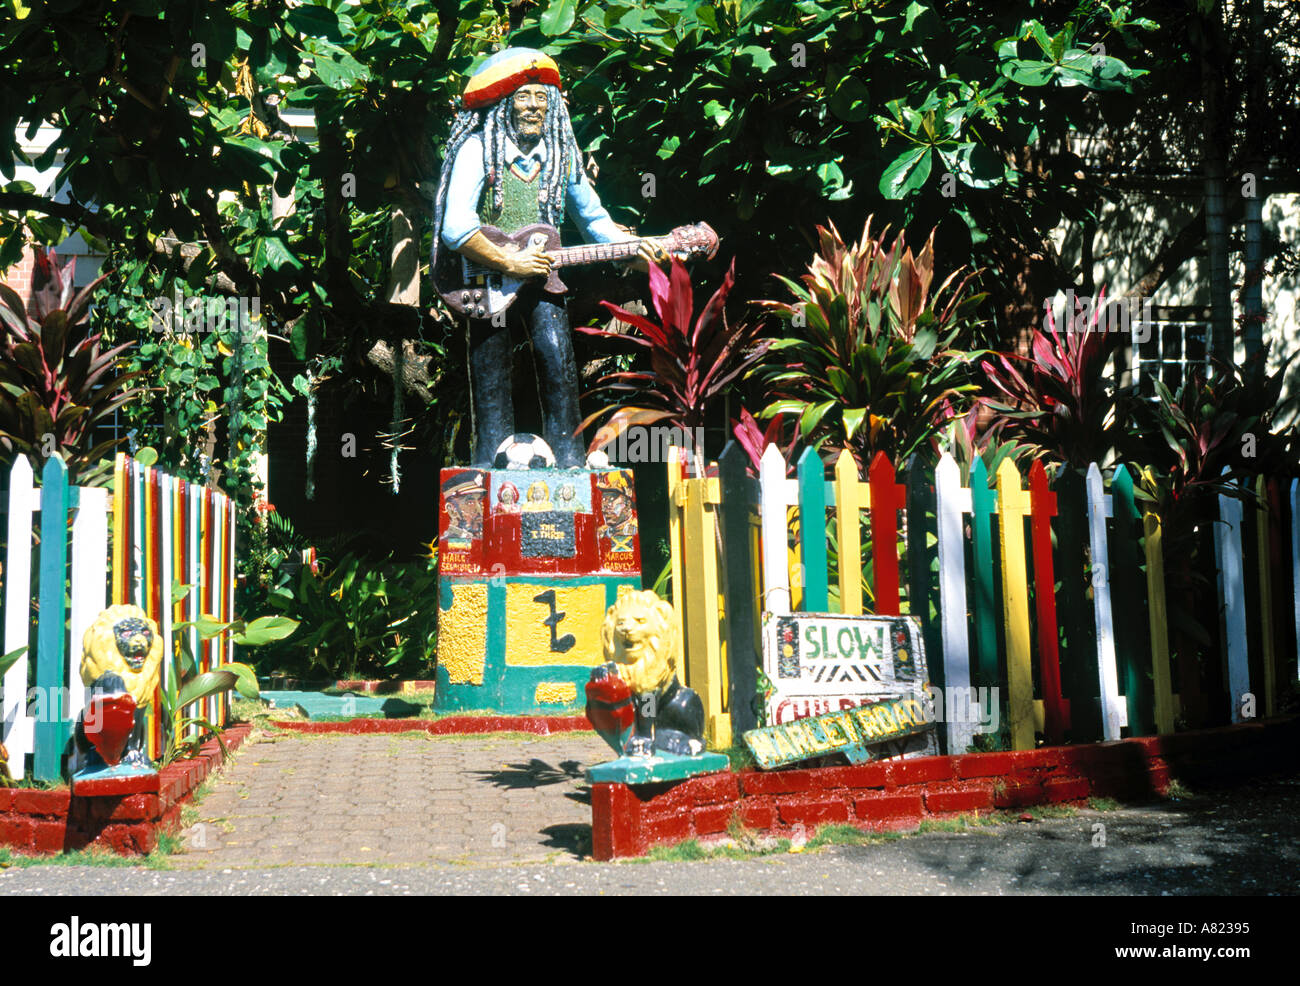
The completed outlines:
{"type": "MultiPolygon", "coordinates": [[[[562,295],[536,278],[551,271],[541,246],[517,252],[493,243],[481,226],[515,233],[567,213],[588,243],[625,241],[582,172],[555,62],[532,48],[506,48],[469,78],[443,155],[434,211],[434,265],[439,247],[482,268],[532,278],[510,308],[525,321],[542,399],[542,437],[560,468],[584,464],[577,407],[577,367],[562,295]],[[441,242],[439,242],[441,241],[441,242]]],[[[638,263],[667,259],[644,241],[638,263]]],[[[469,386],[474,425],[473,466],[490,468],[500,442],[515,431],[511,394],[511,329],[504,317],[469,321],[469,386]]]]}

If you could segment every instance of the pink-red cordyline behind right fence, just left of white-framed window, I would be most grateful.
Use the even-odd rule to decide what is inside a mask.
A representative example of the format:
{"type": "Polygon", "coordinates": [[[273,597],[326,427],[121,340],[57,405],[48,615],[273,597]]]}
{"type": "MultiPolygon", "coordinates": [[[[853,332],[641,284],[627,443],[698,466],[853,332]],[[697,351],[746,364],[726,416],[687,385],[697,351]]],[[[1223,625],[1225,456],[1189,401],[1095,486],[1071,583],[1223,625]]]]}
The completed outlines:
{"type": "Polygon", "coordinates": [[[1096,462],[1105,466],[1119,440],[1118,397],[1108,386],[1106,360],[1121,336],[1098,330],[1105,310],[1105,287],[1091,316],[1074,328],[1057,332],[1048,310],[1048,328],[1034,330],[1030,355],[994,353],[980,363],[992,392],[985,406],[997,415],[989,428],[993,440],[1009,438],[1027,446],[1034,458],[1060,462],[1078,470],[1096,462]]]}

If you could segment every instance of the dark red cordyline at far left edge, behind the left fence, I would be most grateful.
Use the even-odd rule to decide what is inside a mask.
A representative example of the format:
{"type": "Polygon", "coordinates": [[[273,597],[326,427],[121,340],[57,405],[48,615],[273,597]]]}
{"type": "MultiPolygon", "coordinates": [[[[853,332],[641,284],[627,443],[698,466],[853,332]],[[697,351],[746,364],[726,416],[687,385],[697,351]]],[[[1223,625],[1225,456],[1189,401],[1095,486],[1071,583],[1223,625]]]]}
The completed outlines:
{"type": "Polygon", "coordinates": [[[117,373],[127,346],[105,353],[100,333],[83,334],[104,276],[74,291],[74,263],[60,268],[36,250],[32,317],[17,291],[0,285],[0,450],[25,453],[38,471],[53,451],[78,483],[92,485],[109,475],[100,459],[117,444],[90,447],[92,428],[136,394],[126,384],[138,375],[117,373]]]}

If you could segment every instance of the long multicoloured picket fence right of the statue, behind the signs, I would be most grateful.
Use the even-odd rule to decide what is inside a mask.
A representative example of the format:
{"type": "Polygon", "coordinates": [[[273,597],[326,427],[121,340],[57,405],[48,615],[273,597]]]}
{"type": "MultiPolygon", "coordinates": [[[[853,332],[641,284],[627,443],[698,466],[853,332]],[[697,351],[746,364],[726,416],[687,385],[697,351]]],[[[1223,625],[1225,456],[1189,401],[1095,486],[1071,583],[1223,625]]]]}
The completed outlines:
{"type": "MultiPolygon", "coordinates": [[[[708,472],[670,451],[673,607],[715,743],[757,725],[762,615],[792,609],[918,617],[932,683],[997,688],[1013,749],[1271,715],[1297,680],[1300,480],[1217,497],[1192,529],[1214,558],[1196,589],[1166,572],[1167,519],[1140,509],[1126,467],[1049,484],[1041,463],[1026,483],[1010,459],[992,477],[976,460],[963,481],[949,455],[900,477],[880,454],[862,480],[842,453],[828,481],[815,451],[790,477],[770,446],[755,479],[731,442],[708,472]],[[1217,641],[1197,644],[1171,602],[1217,641]]],[[[975,728],[945,722],[948,751],[975,728]]]]}

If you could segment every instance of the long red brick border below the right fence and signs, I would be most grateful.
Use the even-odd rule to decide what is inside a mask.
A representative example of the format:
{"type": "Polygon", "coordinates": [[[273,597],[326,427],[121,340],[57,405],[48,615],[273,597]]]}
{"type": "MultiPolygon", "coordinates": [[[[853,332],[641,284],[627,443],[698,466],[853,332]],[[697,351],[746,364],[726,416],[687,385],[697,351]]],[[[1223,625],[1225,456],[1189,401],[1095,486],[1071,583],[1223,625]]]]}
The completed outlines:
{"type": "Polygon", "coordinates": [[[1086,747],[915,757],[858,766],[742,770],[660,784],[592,786],[592,855],[718,838],[732,817],[789,836],[828,822],[911,830],[924,818],[1083,801],[1141,800],[1171,780],[1214,782],[1294,769],[1300,718],[1140,736],[1086,747]]]}

